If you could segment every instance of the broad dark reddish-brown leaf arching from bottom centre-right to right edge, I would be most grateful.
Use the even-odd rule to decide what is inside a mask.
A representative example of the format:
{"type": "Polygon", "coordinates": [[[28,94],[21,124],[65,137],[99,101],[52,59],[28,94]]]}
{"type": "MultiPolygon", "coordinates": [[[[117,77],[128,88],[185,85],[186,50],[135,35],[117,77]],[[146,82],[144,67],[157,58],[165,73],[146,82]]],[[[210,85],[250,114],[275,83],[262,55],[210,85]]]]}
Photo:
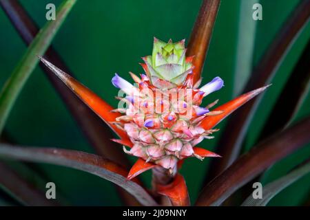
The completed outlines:
{"type": "Polygon", "coordinates": [[[205,186],[197,206],[218,206],[272,164],[310,142],[310,118],[251,148],[205,186]]]}

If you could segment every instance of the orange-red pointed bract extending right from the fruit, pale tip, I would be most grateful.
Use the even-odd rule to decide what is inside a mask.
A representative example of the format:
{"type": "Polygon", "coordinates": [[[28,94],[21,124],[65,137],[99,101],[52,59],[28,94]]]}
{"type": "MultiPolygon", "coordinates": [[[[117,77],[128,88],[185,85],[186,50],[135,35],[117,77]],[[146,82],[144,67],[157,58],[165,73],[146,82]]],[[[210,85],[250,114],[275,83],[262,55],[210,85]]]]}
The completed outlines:
{"type": "Polygon", "coordinates": [[[242,96],[239,96],[235,98],[234,100],[231,100],[220,107],[217,107],[214,109],[214,111],[224,111],[223,113],[219,115],[211,115],[207,116],[203,122],[201,122],[200,126],[203,126],[204,129],[212,129],[216,124],[221,122],[224,118],[226,118],[228,115],[230,115],[232,112],[234,112],[236,109],[242,106],[242,104],[245,104],[258,94],[262,93],[269,85],[265,87],[261,87],[259,89],[255,89],[253,91],[249,91],[247,94],[243,94],[242,96]]]}

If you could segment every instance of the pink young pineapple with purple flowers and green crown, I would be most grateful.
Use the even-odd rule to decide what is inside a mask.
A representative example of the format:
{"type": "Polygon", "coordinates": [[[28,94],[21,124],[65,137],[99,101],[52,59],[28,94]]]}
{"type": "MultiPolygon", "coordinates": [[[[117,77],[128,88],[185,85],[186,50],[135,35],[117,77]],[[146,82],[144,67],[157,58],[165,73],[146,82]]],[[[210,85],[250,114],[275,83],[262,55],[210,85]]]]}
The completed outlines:
{"type": "Polygon", "coordinates": [[[216,77],[198,89],[201,79],[193,85],[193,57],[185,53],[185,40],[164,43],[154,38],[152,56],[143,57],[145,63],[141,64],[145,74],[139,78],[130,73],[136,85],[118,74],[112,78],[112,84],[126,94],[118,99],[127,106],[114,110],[124,113],[114,124],[134,144],[130,150],[123,146],[125,153],[158,164],[172,175],[180,159],[203,159],[193,147],[212,138],[217,130],[205,130],[200,122],[207,115],[223,113],[209,111],[217,101],[200,107],[205,96],[223,87],[223,80],[216,77]]]}

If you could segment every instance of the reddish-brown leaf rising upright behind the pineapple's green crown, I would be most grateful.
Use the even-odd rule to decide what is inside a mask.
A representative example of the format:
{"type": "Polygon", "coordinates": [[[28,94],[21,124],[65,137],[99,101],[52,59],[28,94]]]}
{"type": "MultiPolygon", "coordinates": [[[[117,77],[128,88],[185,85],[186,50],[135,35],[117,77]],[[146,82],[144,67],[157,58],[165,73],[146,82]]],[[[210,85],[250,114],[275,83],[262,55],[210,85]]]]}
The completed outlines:
{"type": "Polygon", "coordinates": [[[194,56],[194,83],[203,71],[203,63],[211,40],[212,30],[220,7],[220,0],[204,0],[201,5],[187,48],[187,56],[194,56]]]}

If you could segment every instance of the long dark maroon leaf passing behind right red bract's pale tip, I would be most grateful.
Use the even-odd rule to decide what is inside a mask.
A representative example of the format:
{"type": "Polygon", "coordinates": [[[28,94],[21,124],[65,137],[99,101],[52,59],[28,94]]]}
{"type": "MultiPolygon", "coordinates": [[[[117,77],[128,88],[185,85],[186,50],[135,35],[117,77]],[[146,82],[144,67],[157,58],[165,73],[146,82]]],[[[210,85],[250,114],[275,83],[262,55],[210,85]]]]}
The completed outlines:
{"type": "MultiPolygon", "coordinates": [[[[307,26],[310,10],[304,10],[305,8],[310,8],[309,0],[300,1],[297,8],[293,10],[293,13],[288,17],[288,20],[271,43],[270,49],[262,56],[262,60],[258,62],[258,67],[251,74],[251,78],[246,83],[243,92],[262,87],[271,81],[283,58],[290,50],[291,45],[296,41],[304,27],[307,26]]],[[[211,169],[208,172],[206,182],[225,170],[238,157],[249,122],[260,100],[261,98],[258,98],[254,102],[249,102],[249,104],[242,107],[240,111],[237,111],[229,118],[222,133],[223,138],[218,143],[217,152],[223,156],[223,159],[211,161],[209,166],[211,169]]]]}

